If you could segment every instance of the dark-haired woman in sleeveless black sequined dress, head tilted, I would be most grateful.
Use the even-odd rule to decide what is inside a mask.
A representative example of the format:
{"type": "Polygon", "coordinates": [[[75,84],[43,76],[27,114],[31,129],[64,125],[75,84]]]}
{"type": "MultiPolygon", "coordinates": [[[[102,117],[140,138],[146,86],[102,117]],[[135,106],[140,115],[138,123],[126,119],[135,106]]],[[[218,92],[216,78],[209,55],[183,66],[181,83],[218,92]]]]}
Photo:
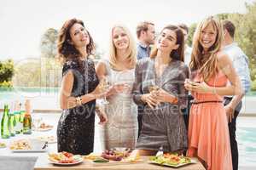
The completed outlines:
{"type": "MultiPolygon", "coordinates": [[[[82,20],[67,20],[58,37],[58,54],[63,60],[57,127],[58,151],[87,155],[93,151],[96,98],[99,80],[92,59],[94,42],[82,20]]],[[[100,116],[101,122],[107,120],[100,116]]]]}

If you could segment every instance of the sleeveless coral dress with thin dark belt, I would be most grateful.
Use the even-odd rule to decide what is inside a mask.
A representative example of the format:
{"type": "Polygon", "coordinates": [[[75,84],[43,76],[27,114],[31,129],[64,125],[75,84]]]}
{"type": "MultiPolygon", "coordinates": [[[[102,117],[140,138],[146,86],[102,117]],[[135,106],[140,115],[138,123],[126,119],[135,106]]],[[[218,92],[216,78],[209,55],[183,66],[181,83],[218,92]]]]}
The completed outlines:
{"type": "MultiPolygon", "coordinates": [[[[198,75],[194,79],[200,80],[198,75]]],[[[221,71],[207,82],[212,87],[224,87],[226,83],[227,77],[221,71]]],[[[197,104],[190,109],[188,156],[198,156],[206,161],[208,170],[231,170],[229,128],[224,105],[220,102],[223,97],[218,94],[192,94],[197,104]]]]}

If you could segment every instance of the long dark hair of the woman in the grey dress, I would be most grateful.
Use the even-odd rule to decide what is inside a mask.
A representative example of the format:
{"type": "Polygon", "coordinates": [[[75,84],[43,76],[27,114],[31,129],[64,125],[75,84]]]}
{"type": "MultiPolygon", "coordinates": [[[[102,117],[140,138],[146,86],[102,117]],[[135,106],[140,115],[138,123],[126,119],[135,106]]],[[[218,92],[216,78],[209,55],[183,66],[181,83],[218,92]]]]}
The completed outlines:
{"type": "MultiPolygon", "coordinates": [[[[177,49],[173,49],[171,54],[170,54],[170,57],[172,59],[177,59],[177,60],[180,60],[180,61],[184,61],[184,35],[183,35],[183,31],[181,30],[181,28],[179,28],[178,26],[174,26],[174,25],[168,25],[168,26],[165,26],[162,31],[164,30],[172,30],[175,32],[176,34],[176,39],[177,39],[177,42],[176,44],[178,44],[178,48],[177,49]]],[[[162,33],[162,31],[160,33],[162,33]]],[[[155,47],[153,50],[152,50],[152,53],[150,54],[150,58],[154,58],[157,54],[157,51],[158,49],[155,47]]]]}

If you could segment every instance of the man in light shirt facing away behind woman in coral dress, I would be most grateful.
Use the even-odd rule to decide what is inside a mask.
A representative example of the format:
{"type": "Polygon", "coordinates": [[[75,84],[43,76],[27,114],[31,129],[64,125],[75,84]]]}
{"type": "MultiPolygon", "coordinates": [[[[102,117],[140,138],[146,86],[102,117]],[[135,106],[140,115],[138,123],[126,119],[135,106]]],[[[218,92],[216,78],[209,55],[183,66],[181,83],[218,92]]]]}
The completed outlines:
{"type": "Polygon", "coordinates": [[[228,54],[228,56],[232,60],[234,68],[236,69],[236,73],[241,79],[241,84],[243,88],[243,93],[241,95],[224,97],[225,110],[226,110],[226,114],[229,121],[232,164],[233,164],[233,169],[237,170],[238,169],[238,149],[237,149],[237,142],[236,142],[236,118],[239,112],[241,111],[241,99],[250,89],[251,78],[250,78],[250,72],[248,68],[247,55],[244,54],[241,48],[237,46],[237,43],[234,42],[236,27],[230,20],[224,20],[223,26],[224,26],[224,53],[228,54]]]}

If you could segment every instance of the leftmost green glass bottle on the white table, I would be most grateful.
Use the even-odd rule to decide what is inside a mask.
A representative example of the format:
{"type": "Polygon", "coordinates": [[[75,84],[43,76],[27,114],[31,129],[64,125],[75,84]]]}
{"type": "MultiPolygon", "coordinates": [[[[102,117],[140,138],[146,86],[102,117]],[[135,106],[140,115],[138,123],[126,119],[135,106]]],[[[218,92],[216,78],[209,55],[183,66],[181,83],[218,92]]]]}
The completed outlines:
{"type": "Polygon", "coordinates": [[[1,121],[1,137],[3,139],[9,139],[9,108],[8,105],[4,105],[3,117],[1,121]]]}

